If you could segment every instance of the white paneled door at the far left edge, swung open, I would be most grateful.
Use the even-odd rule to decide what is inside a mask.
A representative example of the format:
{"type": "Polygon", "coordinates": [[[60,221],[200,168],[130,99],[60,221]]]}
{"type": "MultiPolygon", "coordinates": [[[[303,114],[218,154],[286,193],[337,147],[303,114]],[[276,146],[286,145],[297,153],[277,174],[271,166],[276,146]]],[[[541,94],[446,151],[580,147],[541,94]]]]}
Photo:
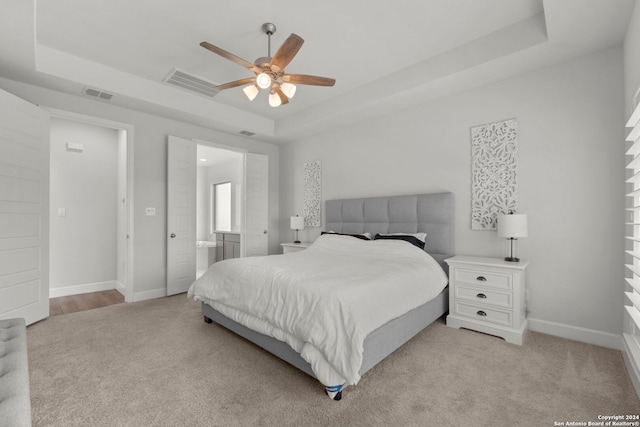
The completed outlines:
{"type": "Polygon", "coordinates": [[[49,316],[49,114],[0,90],[0,318],[49,316]]]}

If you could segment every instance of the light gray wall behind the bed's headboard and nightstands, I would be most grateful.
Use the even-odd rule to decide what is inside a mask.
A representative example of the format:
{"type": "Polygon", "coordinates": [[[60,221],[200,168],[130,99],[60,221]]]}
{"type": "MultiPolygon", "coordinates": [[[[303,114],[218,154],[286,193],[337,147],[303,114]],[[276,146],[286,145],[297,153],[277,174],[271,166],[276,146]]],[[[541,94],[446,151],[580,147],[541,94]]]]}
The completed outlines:
{"type": "MultiPolygon", "coordinates": [[[[619,346],[623,292],[623,62],[607,49],[281,149],[281,229],[302,211],[304,162],[322,199],[452,191],[458,254],[503,257],[471,230],[470,128],[517,118],[530,328],[619,346]]],[[[312,240],[320,229],[305,229],[312,240]]]]}

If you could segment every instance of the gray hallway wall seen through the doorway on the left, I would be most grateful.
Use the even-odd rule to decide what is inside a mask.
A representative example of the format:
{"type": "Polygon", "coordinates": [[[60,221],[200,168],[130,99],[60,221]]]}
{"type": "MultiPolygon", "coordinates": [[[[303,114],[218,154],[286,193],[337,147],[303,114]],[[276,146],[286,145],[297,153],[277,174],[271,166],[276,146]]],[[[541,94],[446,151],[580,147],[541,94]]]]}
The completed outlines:
{"type": "Polygon", "coordinates": [[[49,283],[54,294],[56,288],[115,284],[117,156],[116,130],[51,119],[49,283]],[[68,142],[83,144],[84,152],[67,151],[68,142]],[[66,216],[59,216],[58,208],[66,209],[66,216]]]}

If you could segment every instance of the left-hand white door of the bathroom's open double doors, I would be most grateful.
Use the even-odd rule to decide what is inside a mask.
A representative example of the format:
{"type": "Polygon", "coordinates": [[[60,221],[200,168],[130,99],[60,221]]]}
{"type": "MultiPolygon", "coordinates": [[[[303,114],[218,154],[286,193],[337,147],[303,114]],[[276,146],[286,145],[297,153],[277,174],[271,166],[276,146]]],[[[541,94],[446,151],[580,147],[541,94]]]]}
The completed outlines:
{"type": "Polygon", "coordinates": [[[169,135],[167,160],[167,295],[196,280],[197,145],[169,135]]]}

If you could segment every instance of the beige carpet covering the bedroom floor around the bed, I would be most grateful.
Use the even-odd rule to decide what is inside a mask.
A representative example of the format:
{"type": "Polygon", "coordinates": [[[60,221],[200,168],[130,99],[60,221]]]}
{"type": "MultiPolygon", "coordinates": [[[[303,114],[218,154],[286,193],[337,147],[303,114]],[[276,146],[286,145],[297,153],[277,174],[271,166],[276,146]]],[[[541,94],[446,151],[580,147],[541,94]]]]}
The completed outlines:
{"type": "Polygon", "coordinates": [[[34,426],[553,426],[638,414],[619,351],[438,321],[340,402],[178,295],[28,328],[34,426]]]}

